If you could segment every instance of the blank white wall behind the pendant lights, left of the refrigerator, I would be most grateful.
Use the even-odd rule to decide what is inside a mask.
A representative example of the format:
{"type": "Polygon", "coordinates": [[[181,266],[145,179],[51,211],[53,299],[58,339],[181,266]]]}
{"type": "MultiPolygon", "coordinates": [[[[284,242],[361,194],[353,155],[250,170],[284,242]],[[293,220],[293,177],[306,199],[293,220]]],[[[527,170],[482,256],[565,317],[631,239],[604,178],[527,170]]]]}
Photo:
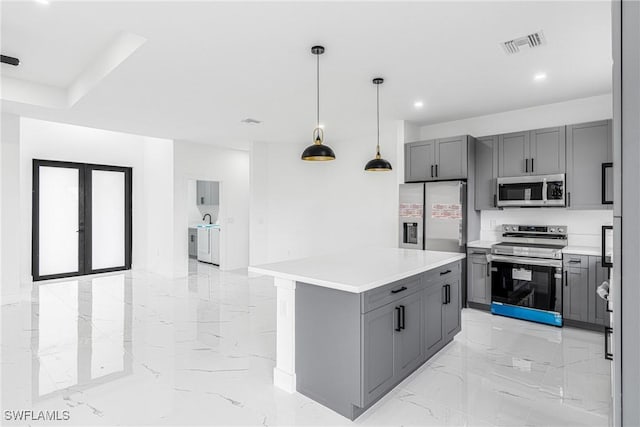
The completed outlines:
{"type": "MultiPolygon", "coordinates": [[[[336,160],[305,162],[305,143],[251,149],[251,264],[366,245],[396,246],[396,123],[381,123],[382,157],[392,172],[365,172],[374,138],[331,141],[336,160]]],[[[348,261],[348,260],[347,260],[348,261]]]]}

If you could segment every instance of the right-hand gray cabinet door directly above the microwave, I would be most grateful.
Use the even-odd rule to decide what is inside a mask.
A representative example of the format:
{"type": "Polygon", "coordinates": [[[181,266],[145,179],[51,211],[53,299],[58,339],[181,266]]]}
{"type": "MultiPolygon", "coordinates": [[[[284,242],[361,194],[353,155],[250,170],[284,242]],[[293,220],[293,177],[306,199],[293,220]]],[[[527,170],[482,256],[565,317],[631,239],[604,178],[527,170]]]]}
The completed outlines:
{"type": "Polygon", "coordinates": [[[532,130],[529,138],[529,172],[534,175],[564,173],[565,127],[532,130]]]}

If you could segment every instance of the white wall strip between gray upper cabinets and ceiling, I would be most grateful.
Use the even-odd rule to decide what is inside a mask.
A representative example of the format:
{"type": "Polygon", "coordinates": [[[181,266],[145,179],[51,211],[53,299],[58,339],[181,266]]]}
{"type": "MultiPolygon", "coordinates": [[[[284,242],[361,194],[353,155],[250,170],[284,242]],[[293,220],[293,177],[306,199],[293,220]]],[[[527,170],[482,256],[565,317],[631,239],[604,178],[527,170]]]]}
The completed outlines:
{"type": "Polygon", "coordinates": [[[417,139],[406,139],[405,142],[444,138],[455,135],[473,135],[480,137],[610,119],[611,117],[613,117],[613,100],[611,95],[599,95],[422,126],[420,127],[419,137],[417,139]]]}

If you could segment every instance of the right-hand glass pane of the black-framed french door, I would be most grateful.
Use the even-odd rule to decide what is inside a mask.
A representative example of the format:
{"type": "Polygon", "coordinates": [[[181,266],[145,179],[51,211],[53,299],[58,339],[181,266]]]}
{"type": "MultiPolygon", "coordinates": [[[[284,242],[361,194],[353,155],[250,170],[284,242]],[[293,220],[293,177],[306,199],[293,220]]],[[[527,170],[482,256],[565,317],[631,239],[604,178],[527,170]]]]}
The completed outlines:
{"type": "Polygon", "coordinates": [[[91,268],[124,266],[124,172],[91,173],[91,268]]]}

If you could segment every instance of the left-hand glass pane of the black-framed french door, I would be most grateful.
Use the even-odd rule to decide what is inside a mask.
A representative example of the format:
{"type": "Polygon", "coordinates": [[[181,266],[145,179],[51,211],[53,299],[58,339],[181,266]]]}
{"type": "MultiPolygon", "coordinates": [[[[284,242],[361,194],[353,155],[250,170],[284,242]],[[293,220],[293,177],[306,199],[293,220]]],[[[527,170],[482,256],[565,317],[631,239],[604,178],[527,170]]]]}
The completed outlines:
{"type": "Polygon", "coordinates": [[[40,166],[40,276],[78,268],[79,170],[40,166]]]}

